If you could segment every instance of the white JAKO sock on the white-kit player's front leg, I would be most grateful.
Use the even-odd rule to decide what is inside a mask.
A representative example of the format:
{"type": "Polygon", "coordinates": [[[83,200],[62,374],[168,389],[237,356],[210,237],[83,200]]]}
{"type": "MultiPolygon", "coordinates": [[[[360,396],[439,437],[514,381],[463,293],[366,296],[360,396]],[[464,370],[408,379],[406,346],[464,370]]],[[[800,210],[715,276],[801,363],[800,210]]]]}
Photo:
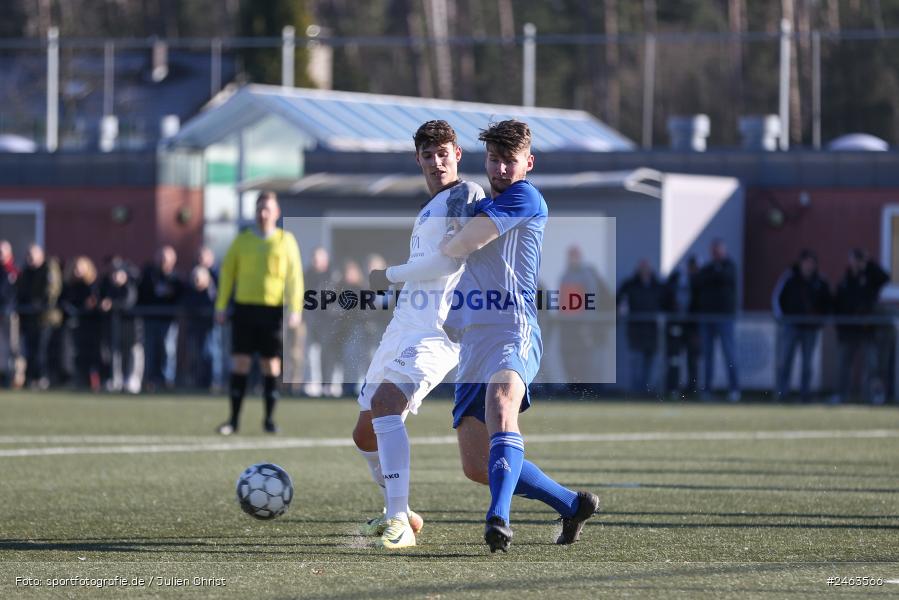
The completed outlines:
{"type": "Polygon", "coordinates": [[[378,456],[387,491],[387,518],[399,516],[409,508],[409,435],[401,415],[371,420],[378,436],[378,456]]]}

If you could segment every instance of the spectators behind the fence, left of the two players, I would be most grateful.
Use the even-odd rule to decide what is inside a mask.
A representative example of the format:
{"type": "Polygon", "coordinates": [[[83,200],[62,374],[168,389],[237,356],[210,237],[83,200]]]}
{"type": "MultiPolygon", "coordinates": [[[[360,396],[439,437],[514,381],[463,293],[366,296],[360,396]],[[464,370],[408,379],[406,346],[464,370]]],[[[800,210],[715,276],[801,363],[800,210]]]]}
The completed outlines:
{"type": "MultiPolygon", "coordinates": [[[[61,265],[34,244],[17,264],[0,240],[0,388],[223,389],[229,336],[214,318],[215,255],[201,248],[186,278],[178,264],[175,249],[164,246],[142,269],[112,256],[101,272],[86,256],[61,265]]],[[[368,271],[385,266],[372,255],[365,270],[353,260],[335,270],[317,248],[304,278],[309,289],[339,293],[364,288],[368,271]]],[[[312,380],[298,391],[353,393],[389,318],[387,311],[365,321],[350,311],[310,311],[302,334],[286,338],[299,346],[285,348],[301,369],[291,379],[312,380]]]]}

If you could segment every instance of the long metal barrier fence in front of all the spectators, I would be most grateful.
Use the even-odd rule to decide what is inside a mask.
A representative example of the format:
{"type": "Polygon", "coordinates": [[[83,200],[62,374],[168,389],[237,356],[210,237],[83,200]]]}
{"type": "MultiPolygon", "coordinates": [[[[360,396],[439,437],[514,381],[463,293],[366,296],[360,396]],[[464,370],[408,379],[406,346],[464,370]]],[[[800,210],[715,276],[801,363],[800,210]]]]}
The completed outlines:
{"type": "MultiPolygon", "coordinates": [[[[593,331],[602,327],[601,319],[581,321],[593,331]]],[[[564,371],[553,373],[565,368],[561,357],[568,341],[562,322],[558,314],[541,314],[545,351],[542,377],[538,376],[537,383],[571,381],[564,378],[564,371]]],[[[617,355],[614,383],[588,378],[568,386],[556,383],[546,387],[553,394],[586,391],[599,399],[622,392],[678,398],[693,393],[726,393],[730,382],[722,337],[727,334],[713,334],[727,327],[734,334],[733,364],[740,391],[782,400],[791,394],[799,396],[805,353],[809,368],[805,371],[808,397],[804,399],[833,401],[839,397],[840,401],[875,404],[897,399],[899,315],[892,314],[782,320],[760,312],[734,317],[620,315],[616,339],[596,345],[597,352],[617,355]],[[632,335],[634,326],[642,328],[636,338],[632,335]],[[714,348],[709,350],[708,340],[712,338],[714,348]],[[790,347],[794,365],[787,373],[784,357],[790,347]],[[709,361],[715,373],[707,382],[709,361]]],[[[299,382],[286,386],[287,391],[354,394],[359,381],[345,380],[344,374],[358,373],[361,378],[367,366],[365,359],[373,354],[380,335],[351,337],[357,345],[360,339],[367,340],[361,342],[366,347],[348,348],[330,359],[322,355],[326,345],[317,345],[313,338],[305,323],[299,330],[285,328],[284,379],[299,382]],[[360,360],[364,364],[355,364],[360,360]],[[330,375],[322,375],[326,363],[335,367],[330,375]]],[[[230,325],[215,325],[211,311],[69,313],[53,323],[42,321],[41,314],[22,311],[20,315],[0,316],[0,376],[7,375],[7,385],[74,385],[134,393],[166,389],[218,392],[227,385],[230,339],[230,325]]]]}

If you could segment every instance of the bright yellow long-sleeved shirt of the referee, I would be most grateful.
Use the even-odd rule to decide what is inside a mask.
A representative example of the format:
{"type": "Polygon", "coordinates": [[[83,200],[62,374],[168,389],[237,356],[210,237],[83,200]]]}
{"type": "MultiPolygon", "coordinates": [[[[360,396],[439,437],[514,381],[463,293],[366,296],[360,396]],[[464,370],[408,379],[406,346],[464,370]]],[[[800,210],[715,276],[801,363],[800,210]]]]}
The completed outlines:
{"type": "Polygon", "coordinates": [[[222,262],[217,310],[225,310],[232,291],[238,304],[286,305],[300,312],[303,269],[293,234],[279,228],[263,238],[252,228],[242,231],[222,262]]]}

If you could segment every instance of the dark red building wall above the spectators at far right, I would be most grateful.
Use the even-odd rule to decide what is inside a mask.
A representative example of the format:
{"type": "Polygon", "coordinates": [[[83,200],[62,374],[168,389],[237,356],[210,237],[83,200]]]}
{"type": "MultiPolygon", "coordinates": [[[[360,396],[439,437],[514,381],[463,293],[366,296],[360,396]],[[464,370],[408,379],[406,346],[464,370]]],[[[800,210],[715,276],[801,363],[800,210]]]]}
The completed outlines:
{"type": "Polygon", "coordinates": [[[880,261],[882,213],[889,204],[899,204],[899,189],[747,190],[745,309],[771,309],[777,279],[803,248],[818,254],[821,272],[832,286],[843,276],[850,249],[863,248],[880,261]],[[784,215],[782,226],[771,224],[772,210],[784,215]]]}

